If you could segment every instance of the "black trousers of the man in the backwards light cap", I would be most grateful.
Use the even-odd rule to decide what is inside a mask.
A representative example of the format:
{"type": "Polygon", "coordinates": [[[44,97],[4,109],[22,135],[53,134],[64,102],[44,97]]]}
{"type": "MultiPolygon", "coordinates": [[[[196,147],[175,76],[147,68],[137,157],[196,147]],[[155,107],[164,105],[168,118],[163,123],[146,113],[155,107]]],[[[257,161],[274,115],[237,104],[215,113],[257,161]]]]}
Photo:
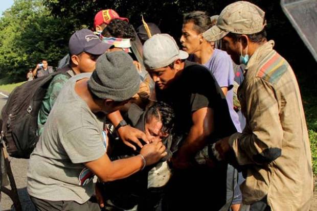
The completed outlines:
{"type": "Polygon", "coordinates": [[[167,185],[166,210],[218,211],[227,203],[227,165],[175,170],[167,185]]]}

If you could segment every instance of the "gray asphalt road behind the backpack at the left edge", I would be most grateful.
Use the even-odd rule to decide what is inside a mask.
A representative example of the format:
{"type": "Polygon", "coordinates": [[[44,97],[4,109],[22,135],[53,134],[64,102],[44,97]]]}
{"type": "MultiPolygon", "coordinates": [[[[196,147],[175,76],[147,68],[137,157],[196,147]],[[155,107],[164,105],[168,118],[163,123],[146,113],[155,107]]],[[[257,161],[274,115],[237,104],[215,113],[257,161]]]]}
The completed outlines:
{"type": "MultiPolygon", "coordinates": [[[[0,110],[6,103],[6,98],[0,93],[0,110]]],[[[15,178],[16,187],[18,189],[18,195],[21,201],[22,209],[24,211],[35,211],[30,197],[27,193],[27,159],[11,158],[11,169],[15,178]]],[[[11,189],[10,186],[8,186],[11,189]]],[[[13,202],[5,193],[1,193],[0,210],[11,210],[13,202]]],[[[15,210],[14,208],[12,210],[15,210]]]]}

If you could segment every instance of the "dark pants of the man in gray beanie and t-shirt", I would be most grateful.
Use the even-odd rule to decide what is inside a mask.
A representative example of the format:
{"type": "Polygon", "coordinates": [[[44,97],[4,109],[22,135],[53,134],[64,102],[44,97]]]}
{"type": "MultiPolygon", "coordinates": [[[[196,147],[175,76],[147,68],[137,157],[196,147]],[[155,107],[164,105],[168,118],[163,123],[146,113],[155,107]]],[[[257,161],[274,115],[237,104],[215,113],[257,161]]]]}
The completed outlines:
{"type": "Polygon", "coordinates": [[[100,211],[99,204],[90,200],[83,204],[75,201],[49,201],[31,196],[37,211],[100,211]]]}

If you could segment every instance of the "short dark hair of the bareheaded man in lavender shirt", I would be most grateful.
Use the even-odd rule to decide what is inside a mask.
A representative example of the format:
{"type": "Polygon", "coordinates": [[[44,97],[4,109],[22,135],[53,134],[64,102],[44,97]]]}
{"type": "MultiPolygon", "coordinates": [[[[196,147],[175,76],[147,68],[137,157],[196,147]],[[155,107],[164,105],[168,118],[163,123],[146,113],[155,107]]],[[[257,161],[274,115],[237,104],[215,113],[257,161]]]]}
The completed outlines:
{"type": "Polygon", "coordinates": [[[209,15],[207,14],[207,12],[203,11],[193,11],[184,14],[183,24],[187,24],[188,22],[193,22],[193,24],[195,25],[194,30],[198,34],[206,32],[212,27],[212,22],[209,15]]]}

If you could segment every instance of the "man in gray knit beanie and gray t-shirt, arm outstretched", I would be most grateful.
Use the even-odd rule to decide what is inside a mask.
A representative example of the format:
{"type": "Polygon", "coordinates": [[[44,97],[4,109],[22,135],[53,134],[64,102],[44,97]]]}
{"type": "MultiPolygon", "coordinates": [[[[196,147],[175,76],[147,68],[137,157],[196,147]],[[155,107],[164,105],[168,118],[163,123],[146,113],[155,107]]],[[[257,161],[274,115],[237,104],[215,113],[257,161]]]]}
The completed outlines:
{"type": "Polygon", "coordinates": [[[96,113],[119,110],[139,90],[140,77],[124,52],[101,55],[93,74],[79,74],[61,90],[31,154],[28,193],[37,210],[100,210],[90,201],[93,177],[122,179],[166,155],[162,142],[111,162],[96,113]],[[91,76],[91,77],[90,77],[91,76]]]}

